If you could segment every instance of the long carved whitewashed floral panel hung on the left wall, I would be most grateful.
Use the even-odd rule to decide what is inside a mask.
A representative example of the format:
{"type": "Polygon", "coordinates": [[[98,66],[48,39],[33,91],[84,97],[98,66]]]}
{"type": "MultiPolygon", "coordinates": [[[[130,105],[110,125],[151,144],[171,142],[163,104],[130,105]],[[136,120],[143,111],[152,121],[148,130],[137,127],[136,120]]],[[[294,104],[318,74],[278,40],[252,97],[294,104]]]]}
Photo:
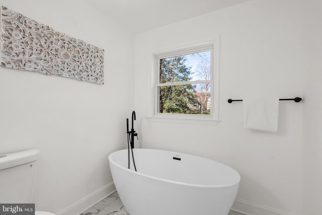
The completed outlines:
{"type": "Polygon", "coordinates": [[[1,65],[104,84],[104,49],[37,23],[4,6],[1,65]]]}

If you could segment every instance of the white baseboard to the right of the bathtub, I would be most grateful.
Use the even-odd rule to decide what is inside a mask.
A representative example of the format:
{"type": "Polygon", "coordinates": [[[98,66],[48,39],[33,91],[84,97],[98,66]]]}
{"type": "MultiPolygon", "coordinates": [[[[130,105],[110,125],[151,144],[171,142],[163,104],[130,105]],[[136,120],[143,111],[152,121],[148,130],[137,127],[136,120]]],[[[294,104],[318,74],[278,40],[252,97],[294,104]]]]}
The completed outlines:
{"type": "Polygon", "coordinates": [[[245,215],[295,215],[289,212],[253,203],[250,201],[245,201],[239,198],[235,199],[230,210],[245,215]]]}

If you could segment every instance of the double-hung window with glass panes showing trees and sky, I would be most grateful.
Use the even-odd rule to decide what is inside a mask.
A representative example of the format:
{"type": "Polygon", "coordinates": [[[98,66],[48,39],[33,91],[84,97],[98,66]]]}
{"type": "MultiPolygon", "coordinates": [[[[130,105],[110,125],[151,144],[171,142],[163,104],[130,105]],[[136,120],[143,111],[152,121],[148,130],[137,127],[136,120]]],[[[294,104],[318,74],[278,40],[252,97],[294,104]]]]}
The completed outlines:
{"type": "Polygon", "coordinates": [[[155,60],[154,117],[218,119],[213,44],[158,54],[155,60]]]}

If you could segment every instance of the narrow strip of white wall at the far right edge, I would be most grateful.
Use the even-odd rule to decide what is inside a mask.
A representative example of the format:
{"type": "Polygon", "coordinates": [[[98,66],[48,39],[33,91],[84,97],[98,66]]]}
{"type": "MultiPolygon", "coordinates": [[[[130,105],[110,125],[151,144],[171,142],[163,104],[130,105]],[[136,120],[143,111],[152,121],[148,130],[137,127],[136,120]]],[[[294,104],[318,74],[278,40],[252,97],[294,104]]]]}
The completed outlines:
{"type": "Polygon", "coordinates": [[[304,79],[304,211],[320,214],[322,202],[322,2],[304,1],[303,47],[305,51],[304,79]]]}

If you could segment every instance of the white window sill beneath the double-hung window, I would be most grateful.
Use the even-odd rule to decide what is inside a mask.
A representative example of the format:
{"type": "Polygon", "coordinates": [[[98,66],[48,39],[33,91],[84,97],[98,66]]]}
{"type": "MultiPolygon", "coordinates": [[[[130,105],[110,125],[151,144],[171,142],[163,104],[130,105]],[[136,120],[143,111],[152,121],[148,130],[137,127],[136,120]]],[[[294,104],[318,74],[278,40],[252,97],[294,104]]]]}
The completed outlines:
{"type": "Polygon", "coordinates": [[[217,125],[218,119],[201,119],[201,118],[184,118],[184,117],[168,117],[168,116],[151,116],[146,117],[150,122],[169,122],[183,124],[199,124],[199,125],[217,125]]]}

